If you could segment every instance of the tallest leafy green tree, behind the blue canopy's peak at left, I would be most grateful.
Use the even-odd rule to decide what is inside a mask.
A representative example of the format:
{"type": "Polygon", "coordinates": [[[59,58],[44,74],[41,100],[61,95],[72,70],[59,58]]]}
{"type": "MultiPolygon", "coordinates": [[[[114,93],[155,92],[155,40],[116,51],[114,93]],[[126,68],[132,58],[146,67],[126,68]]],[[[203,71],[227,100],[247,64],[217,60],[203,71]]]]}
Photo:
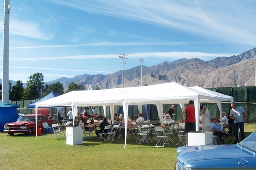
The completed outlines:
{"type": "Polygon", "coordinates": [[[24,98],[28,99],[38,99],[44,90],[44,76],[42,73],[35,73],[28,78],[26,81],[27,87],[25,90],[24,98]]]}

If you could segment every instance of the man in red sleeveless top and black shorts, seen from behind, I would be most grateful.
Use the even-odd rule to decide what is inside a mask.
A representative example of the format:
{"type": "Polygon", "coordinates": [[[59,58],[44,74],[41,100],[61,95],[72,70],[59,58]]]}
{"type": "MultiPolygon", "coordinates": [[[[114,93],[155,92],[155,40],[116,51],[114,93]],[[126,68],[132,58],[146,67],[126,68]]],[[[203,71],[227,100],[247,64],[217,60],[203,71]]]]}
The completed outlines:
{"type": "Polygon", "coordinates": [[[186,134],[186,146],[188,145],[188,133],[195,131],[195,107],[193,106],[194,101],[189,101],[189,106],[185,107],[181,112],[181,122],[183,123],[183,115],[185,116],[185,129],[184,133],[186,134]]]}

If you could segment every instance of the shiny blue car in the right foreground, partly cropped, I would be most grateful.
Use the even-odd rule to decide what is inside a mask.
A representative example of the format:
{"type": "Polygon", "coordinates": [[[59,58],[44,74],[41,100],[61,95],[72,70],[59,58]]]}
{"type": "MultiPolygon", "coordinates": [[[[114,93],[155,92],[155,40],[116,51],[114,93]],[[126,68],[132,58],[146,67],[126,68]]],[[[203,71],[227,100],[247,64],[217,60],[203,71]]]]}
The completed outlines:
{"type": "Polygon", "coordinates": [[[256,170],[256,131],[238,144],[178,147],[175,170],[256,170]]]}

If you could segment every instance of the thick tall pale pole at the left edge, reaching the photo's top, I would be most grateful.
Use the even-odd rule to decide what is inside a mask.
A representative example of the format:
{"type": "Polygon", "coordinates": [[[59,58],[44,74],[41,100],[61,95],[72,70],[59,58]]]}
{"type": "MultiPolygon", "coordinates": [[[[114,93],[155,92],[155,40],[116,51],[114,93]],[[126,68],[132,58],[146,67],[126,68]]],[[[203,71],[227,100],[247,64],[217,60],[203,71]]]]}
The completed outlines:
{"type": "Polygon", "coordinates": [[[10,0],[4,1],[2,103],[9,103],[9,17],[10,0]]]}

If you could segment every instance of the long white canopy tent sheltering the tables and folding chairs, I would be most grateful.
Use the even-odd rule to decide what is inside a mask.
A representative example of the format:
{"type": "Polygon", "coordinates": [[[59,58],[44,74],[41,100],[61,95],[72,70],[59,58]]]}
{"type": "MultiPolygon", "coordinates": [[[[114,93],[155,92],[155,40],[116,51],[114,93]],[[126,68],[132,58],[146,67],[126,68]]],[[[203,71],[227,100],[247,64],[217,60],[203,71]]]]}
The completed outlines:
{"type": "MultiPolygon", "coordinates": [[[[76,115],[78,106],[109,106],[111,110],[111,119],[113,121],[114,106],[122,105],[125,117],[125,134],[127,134],[129,105],[156,104],[160,122],[163,124],[163,104],[180,104],[184,107],[184,103],[188,103],[189,100],[193,100],[195,103],[195,112],[197,113],[195,115],[197,130],[199,130],[198,122],[200,102],[216,102],[218,106],[221,106],[220,97],[217,95],[198,91],[172,82],[151,86],[118,89],[72,91],[46,101],[38,102],[35,107],[37,114],[38,107],[70,106],[72,107],[73,115],[76,115]]],[[[125,147],[126,138],[127,136],[125,135],[125,147]]]]}

